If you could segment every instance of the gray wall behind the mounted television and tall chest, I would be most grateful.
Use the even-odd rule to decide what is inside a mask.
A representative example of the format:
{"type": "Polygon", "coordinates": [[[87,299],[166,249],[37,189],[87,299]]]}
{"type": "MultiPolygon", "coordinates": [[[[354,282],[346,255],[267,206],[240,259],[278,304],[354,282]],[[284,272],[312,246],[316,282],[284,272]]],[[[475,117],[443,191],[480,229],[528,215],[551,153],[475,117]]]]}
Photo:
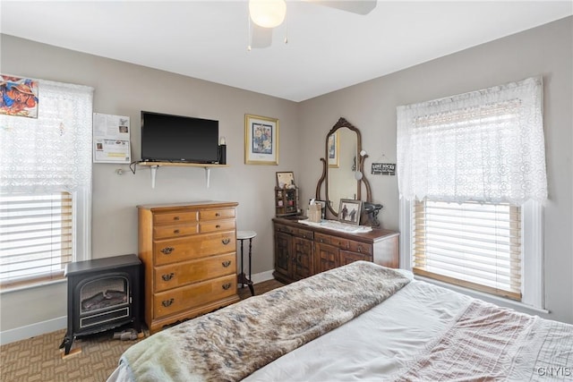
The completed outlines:
{"type": "MultiPolygon", "coordinates": [[[[275,173],[297,174],[296,103],[21,38],[1,37],[3,73],[89,85],[95,89],[94,112],[129,115],[133,160],[141,157],[141,110],[217,119],[219,134],[226,137],[229,167],[210,171],[210,188],[201,167],[161,167],[152,189],[146,166],[138,166],[132,174],[128,166],[95,164],[93,258],[137,253],[139,204],[214,199],[237,201],[237,229],[258,233],[253,240],[253,273],[274,267],[269,222],[275,214],[275,173]],[[245,114],[278,118],[278,166],[244,165],[245,114]],[[115,174],[117,168],[124,174],[115,174]]],[[[65,315],[65,283],[0,295],[1,332],[44,321],[51,325],[48,327],[61,328],[62,320],[57,318],[65,315]]]]}

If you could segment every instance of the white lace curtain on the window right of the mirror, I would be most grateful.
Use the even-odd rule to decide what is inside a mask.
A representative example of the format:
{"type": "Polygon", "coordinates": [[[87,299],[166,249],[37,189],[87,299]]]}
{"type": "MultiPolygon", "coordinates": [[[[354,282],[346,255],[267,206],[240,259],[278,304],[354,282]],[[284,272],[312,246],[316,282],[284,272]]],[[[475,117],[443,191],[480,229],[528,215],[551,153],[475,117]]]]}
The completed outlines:
{"type": "Polygon", "coordinates": [[[398,190],[408,200],[547,199],[543,82],[398,106],[398,190]]]}

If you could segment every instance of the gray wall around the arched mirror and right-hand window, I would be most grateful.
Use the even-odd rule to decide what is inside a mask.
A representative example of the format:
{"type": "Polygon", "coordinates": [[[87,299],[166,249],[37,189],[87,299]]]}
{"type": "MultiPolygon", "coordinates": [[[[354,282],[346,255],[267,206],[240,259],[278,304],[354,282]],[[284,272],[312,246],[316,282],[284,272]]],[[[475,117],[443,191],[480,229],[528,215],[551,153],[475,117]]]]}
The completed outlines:
{"type": "Polygon", "coordinates": [[[306,168],[301,182],[312,184],[320,174],[318,156],[312,155],[317,149],[314,143],[323,141],[338,117],[344,116],[362,132],[363,149],[369,154],[364,173],[372,183],[374,201],[384,205],[381,223],[398,229],[396,177],[369,171],[372,162],[396,163],[396,106],[543,75],[549,191],[543,212],[544,296],[550,310],[544,316],[573,323],[572,21],[571,17],[555,21],[305,101],[299,107],[304,129],[299,149],[306,168]]]}

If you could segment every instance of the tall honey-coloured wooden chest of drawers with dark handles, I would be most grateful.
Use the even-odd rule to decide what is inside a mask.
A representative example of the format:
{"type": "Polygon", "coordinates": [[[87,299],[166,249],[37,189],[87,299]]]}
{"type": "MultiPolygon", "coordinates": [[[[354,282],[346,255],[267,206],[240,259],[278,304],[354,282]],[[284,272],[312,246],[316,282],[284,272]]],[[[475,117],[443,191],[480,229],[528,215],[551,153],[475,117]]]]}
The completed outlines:
{"type": "Polygon", "coordinates": [[[150,333],[239,301],[235,208],[201,201],[138,206],[150,333]]]}

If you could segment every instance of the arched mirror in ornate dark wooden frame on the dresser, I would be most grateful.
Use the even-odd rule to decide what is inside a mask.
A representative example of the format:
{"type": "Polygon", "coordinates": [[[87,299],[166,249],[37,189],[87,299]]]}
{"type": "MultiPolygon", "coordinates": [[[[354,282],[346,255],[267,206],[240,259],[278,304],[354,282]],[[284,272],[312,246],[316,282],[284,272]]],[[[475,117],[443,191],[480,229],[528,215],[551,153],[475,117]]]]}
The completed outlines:
{"type": "Polygon", "coordinates": [[[363,175],[366,157],[360,131],[340,118],[326,136],[325,156],[321,158],[323,171],[316,186],[316,199],[327,200],[327,209],[333,216],[338,216],[340,199],[372,201],[370,183],[363,175]],[[325,198],[321,198],[322,183],[325,198]],[[363,186],[365,199],[362,199],[363,186]]]}

